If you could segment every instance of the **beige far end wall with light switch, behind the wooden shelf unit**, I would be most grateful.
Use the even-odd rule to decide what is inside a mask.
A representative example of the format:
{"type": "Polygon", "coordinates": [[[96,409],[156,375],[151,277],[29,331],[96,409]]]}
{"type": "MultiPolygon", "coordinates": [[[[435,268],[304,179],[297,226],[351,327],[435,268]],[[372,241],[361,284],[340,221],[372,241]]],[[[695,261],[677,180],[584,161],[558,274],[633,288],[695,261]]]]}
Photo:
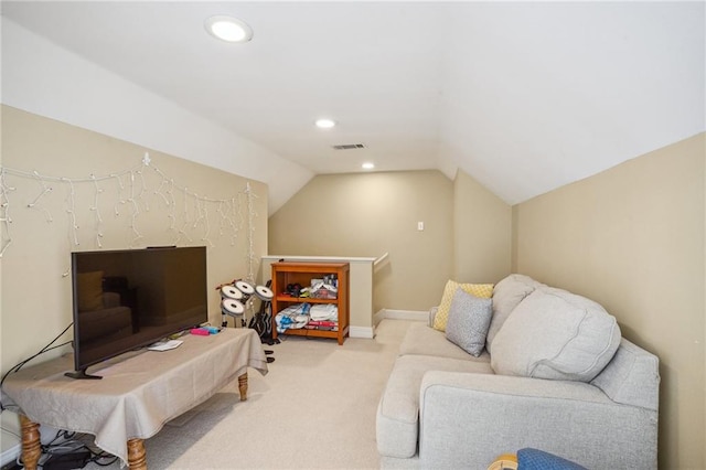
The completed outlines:
{"type": "Polygon", "coordinates": [[[425,310],[451,275],[452,207],[452,183],[438,171],[318,175],[270,217],[269,253],[389,253],[374,275],[373,310],[425,310]]]}

